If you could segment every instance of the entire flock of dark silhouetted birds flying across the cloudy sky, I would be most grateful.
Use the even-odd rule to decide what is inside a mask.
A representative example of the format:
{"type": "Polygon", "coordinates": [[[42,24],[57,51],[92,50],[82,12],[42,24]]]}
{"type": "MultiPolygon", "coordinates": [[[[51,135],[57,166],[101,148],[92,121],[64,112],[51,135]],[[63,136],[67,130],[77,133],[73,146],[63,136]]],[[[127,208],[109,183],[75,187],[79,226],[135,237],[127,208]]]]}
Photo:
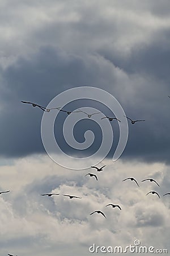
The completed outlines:
{"type": "MultiPolygon", "coordinates": [[[[170,98],[170,96],[168,96],[168,97],[170,98]]],[[[61,112],[65,112],[65,113],[67,113],[68,115],[71,114],[71,113],[79,113],[79,112],[82,112],[82,113],[86,114],[88,118],[91,118],[92,115],[96,115],[96,114],[103,113],[103,112],[96,112],[96,113],[89,114],[89,113],[86,113],[86,112],[84,112],[83,110],[80,110],[80,109],[78,109],[77,111],[67,111],[67,110],[63,110],[63,109],[61,109],[61,108],[59,108],[59,107],[58,107],[58,108],[47,109],[47,108],[45,108],[44,106],[37,105],[37,104],[35,104],[35,103],[33,103],[33,102],[22,101],[22,103],[24,103],[24,104],[31,104],[33,107],[38,107],[38,108],[40,108],[40,109],[41,109],[42,111],[44,111],[44,112],[50,112],[50,110],[54,110],[54,109],[57,109],[58,111],[61,111],[61,112]]],[[[134,125],[136,122],[144,122],[144,121],[145,121],[144,119],[133,120],[133,119],[127,117],[126,115],[124,115],[124,117],[126,117],[127,119],[129,119],[132,125],[134,125]]],[[[117,119],[116,117],[108,117],[108,116],[106,115],[105,117],[103,117],[103,118],[101,118],[101,119],[104,119],[104,118],[108,118],[109,121],[113,121],[114,119],[116,119],[118,122],[121,122],[120,119],[117,119]]],[[[102,167],[100,167],[100,168],[99,168],[99,167],[96,167],[96,166],[91,166],[91,168],[95,168],[97,172],[103,171],[103,168],[104,168],[104,167],[105,167],[105,166],[102,166],[102,167]]],[[[85,176],[87,176],[87,175],[89,175],[90,177],[95,177],[95,179],[98,180],[96,174],[88,173],[88,174],[86,174],[85,176]]],[[[137,184],[137,186],[139,187],[139,184],[138,184],[137,180],[134,179],[134,177],[128,177],[128,178],[126,178],[126,179],[124,179],[124,180],[122,180],[122,181],[126,181],[126,180],[134,181],[134,182],[137,184]]],[[[159,186],[159,184],[156,182],[156,180],[151,179],[151,178],[150,178],[150,179],[144,179],[144,180],[142,180],[141,182],[147,181],[147,180],[149,180],[150,182],[154,181],[154,183],[159,186]]],[[[9,190],[8,190],[8,191],[2,191],[2,192],[0,192],[0,195],[1,195],[2,193],[8,193],[8,192],[10,192],[10,191],[9,191],[9,190]]],[[[150,191],[150,192],[148,192],[148,193],[146,194],[146,196],[147,196],[148,194],[150,194],[150,193],[153,194],[153,195],[156,194],[156,195],[160,198],[158,192],[156,192],[156,191],[150,191]]],[[[48,197],[51,197],[51,196],[53,196],[53,195],[59,195],[59,193],[44,193],[44,194],[41,194],[41,196],[48,196],[48,197]]],[[[165,193],[163,196],[166,196],[166,195],[170,195],[170,192],[169,192],[169,193],[165,193]]],[[[75,199],[82,199],[82,197],[73,196],[73,195],[65,195],[65,194],[63,194],[63,196],[69,197],[69,199],[73,199],[73,198],[75,198],[75,199]]],[[[120,205],[116,205],[116,204],[112,204],[112,203],[105,205],[105,207],[109,207],[109,206],[111,206],[112,208],[118,208],[118,209],[121,210],[120,205]]],[[[94,214],[94,213],[102,214],[105,218],[107,218],[107,217],[105,216],[105,214],[104,214],[103,212],[101,212],[101,210],[95,210],[94,212],[90,213],[90,215],[92,215],[92,214],[94,214]]],[[[7,254],[7,255],[8,255],[8,256],[14,256],[13,254],[7,254]]],[[[18,255],[16,255],[16,256],[18,256],[18,255]]]]}

